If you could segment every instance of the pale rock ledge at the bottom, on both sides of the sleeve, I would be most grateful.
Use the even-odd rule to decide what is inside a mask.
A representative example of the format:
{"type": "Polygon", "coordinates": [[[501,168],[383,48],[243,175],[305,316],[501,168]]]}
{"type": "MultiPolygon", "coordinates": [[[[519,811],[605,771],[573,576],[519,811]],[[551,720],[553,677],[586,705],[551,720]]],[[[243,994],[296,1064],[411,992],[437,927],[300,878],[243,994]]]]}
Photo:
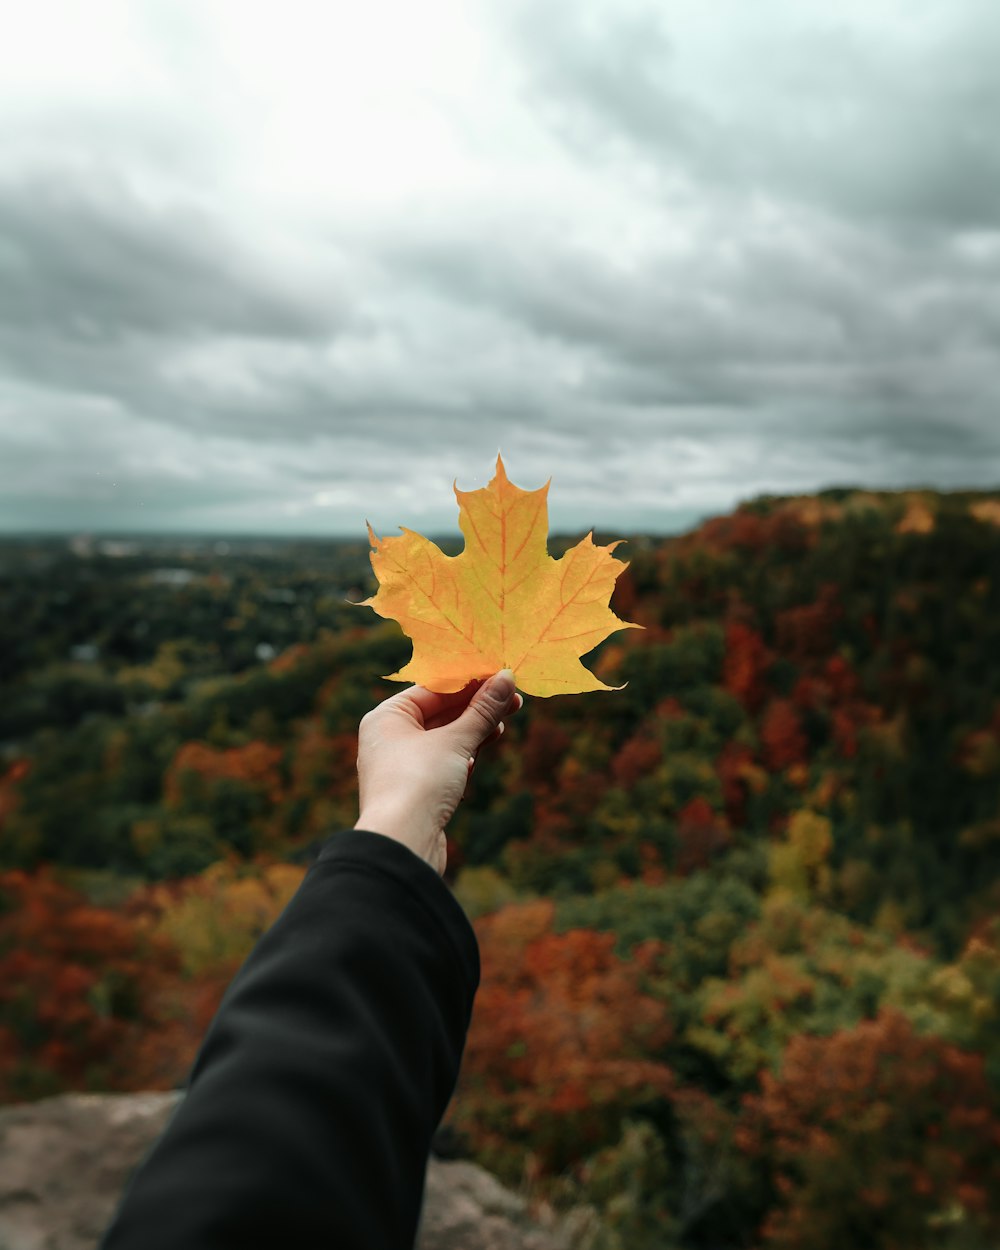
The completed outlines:
{"type": "MultiPolygon", "coordinates": [[[[94,1250],[179,1094],[68,1094],[0,1108],[0,1250],[94,1250]]],[[[419,1250],[575,1250],[470,1162],[431,1159],[419,1250]]],[[[576,1221],[579,1226],[579,1219],[576,1221]]]]}

